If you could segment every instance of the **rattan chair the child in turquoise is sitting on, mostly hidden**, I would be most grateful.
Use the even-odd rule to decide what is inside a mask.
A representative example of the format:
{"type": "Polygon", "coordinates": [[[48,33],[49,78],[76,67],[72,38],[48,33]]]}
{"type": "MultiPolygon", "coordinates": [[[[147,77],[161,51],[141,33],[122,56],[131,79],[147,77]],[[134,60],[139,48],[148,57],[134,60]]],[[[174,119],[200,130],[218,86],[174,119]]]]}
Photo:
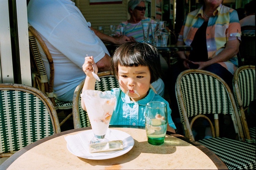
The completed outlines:
{"type": "MultiPolygon", "coordinates": [[[[98,76],[101,81],[96,81],[95,90],[106,91],[119,87],[118,80],[115,78],[112,71],[100,72],[98,73],[98,76]]],[[[84,81],[76,87],[73,97],[73,122],[75,129],[90,126],[88,115],[81,106],[81,93],[83,86],[84,81]]],[[[157,93],[152,85],[150,87],[155,93],[157,93]]]]}

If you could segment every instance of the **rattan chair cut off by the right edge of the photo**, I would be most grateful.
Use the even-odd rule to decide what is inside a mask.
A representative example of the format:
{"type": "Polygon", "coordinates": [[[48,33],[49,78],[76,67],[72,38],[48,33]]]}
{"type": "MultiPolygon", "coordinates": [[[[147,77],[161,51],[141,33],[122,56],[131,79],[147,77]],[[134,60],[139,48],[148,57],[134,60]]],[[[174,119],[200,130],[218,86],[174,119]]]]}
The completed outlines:
{"type": "Polygon", "coordinates": [[[249,130],[245,117],[249,104],[255,100],[255,66],[241,66],[236,70],[233,78],[233,91],[246,141],[255,143],[255,127],[250,127],[249,130]]]}

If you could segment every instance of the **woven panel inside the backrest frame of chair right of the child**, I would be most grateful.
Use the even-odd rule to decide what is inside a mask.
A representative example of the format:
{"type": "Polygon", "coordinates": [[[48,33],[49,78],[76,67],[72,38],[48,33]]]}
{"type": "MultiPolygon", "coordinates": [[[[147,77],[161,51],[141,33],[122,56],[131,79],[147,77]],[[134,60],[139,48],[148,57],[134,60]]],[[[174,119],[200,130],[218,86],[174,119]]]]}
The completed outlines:
{"type": "Polygon", "coordinates": [[[201,73],[183,76],[181,90],[188,117],[197,114],[230,114],[233,109],[226,89],[217,79],[201,73]]]}

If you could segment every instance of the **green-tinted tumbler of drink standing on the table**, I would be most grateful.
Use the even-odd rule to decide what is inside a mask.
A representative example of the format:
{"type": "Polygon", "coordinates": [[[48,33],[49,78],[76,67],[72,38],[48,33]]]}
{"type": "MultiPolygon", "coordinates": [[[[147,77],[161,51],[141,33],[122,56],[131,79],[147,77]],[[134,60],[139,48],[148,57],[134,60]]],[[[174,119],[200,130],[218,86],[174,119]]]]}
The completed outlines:
{"type": "Polygon", "coordinates": [[[145,126],[147,142],[151,145],[162,145],[167,130],[167,105],[163,102],[146,104],[145,126]]]}

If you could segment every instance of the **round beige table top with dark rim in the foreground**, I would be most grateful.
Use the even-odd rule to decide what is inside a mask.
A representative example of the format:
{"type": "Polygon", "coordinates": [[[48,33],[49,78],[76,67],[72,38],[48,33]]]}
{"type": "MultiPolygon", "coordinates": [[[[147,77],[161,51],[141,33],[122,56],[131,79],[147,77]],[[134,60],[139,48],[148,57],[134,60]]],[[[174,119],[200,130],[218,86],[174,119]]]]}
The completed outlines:
{"type": "Polygon", "coordinates": [[[113,128],[130,134],[133,148],[119,157],[91,160],[67,149],[64,136],[90,128],[61,132],[34,142],[8,158],[0,169],[227,169],[214,153],[184,136],[166,135],[165,143],[147,142],[144,129],[113,128]]]}

